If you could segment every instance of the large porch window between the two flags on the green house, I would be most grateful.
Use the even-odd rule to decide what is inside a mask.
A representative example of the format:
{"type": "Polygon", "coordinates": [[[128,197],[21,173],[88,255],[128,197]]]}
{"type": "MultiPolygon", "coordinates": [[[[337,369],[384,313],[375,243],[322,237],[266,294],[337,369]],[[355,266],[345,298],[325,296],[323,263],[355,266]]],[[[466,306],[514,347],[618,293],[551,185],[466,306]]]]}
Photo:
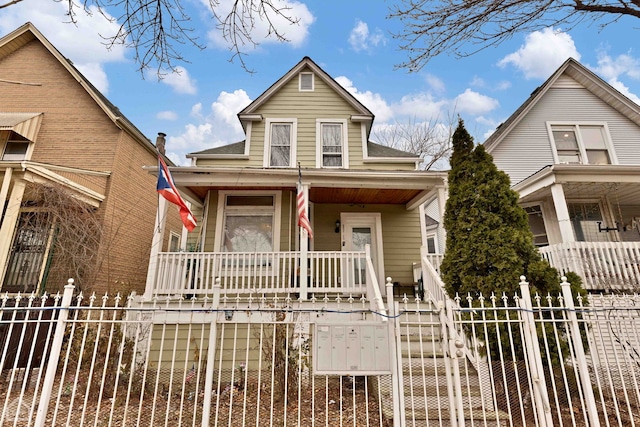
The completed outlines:
{"type": "Polygon", "coordinates": [[[224,252],[272,252],[275,196],[228,195],[224,213],[224,252]]]}

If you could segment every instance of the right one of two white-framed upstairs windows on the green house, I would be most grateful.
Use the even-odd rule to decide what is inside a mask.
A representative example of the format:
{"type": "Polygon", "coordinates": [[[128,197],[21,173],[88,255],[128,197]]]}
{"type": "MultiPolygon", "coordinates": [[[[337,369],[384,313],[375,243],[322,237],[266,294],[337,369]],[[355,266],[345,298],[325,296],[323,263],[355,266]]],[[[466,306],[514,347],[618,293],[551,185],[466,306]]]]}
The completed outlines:
{"type": "Polygon", "coordinates": [[[347,121],[318,119],[316,133],[318,167],[348,167],[347,121]]]}

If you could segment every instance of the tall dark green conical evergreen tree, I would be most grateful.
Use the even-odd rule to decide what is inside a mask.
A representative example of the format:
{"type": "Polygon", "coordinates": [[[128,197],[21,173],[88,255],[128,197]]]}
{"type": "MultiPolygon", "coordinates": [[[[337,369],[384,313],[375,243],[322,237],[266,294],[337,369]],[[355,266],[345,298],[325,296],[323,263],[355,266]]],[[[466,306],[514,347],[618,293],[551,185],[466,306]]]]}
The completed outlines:
{"type": "Polygon", "coordinates": [[[557,295],[558,271],[533,244],[527,213],[518,205],[508,175],[498,170],[484,146],[474,148],[462,119],[452,145],[444,216],[447,249],[441,266],[448,294],[513,296],[524,274],[533,292],[557,295]]]}

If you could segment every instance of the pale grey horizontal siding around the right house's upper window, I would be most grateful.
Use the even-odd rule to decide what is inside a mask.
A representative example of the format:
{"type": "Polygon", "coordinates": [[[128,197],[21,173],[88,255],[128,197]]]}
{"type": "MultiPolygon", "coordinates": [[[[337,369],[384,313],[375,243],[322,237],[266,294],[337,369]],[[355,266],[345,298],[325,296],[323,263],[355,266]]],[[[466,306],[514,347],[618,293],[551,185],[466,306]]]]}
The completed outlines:
{"type": "Polygon", "coordinates": [[[551,88],[491,153],[512,184],[553,164],[547,121],[606,122],[619,164],[640,164],[637,125],[587,89],[551,88]]]}

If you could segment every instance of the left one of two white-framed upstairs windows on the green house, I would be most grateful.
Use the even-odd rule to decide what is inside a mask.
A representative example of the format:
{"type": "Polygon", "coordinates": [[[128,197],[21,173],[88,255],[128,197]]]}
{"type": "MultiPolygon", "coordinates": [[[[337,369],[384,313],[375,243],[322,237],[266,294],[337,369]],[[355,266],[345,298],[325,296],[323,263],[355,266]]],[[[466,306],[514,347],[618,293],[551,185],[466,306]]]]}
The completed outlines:
{"type": "Polygon", "coordinates": [[[265,132],[265,166],[288,168],[295,164],[296,120],[267,119],[265,132]]]}

